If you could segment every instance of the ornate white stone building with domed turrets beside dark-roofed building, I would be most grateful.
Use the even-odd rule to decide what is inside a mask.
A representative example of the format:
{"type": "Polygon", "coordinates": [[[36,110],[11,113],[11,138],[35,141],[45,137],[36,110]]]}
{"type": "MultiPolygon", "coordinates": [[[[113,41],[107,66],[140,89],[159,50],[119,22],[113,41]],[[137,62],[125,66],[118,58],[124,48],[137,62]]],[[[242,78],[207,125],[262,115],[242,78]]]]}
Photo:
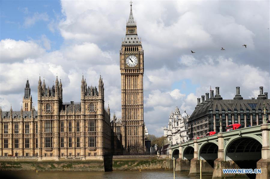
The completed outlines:
{"type": "Polygon", "coordinates": [[[181,115],[177,106],[174,112],[171,111],[168,127],[164,126],[164,137],[167,137],[171,145],[187,142],[189,140],[187,125],[189,117],[190,115],[186,113],[186,110],[184,110],[184,113],[181,115]]]}

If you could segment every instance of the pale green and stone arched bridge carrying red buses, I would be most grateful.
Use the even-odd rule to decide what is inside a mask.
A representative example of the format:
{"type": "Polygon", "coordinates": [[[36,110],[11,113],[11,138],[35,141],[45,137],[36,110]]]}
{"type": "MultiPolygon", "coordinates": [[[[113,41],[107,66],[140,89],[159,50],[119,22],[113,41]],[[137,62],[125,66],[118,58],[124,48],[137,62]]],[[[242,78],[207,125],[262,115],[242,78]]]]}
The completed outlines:
{"type": "MultiPolygon", "coordinates": [[[[235,178],[222,169],[262,169],[261,174],[237,174],[237,178],[270,178],[270,124],[261,124],[171,146],[169,154],[176,160],[176,171],[189,171],[189,176],[235,178]]],[[[173,166],[173,160],[170,162],[173,166]]]]}

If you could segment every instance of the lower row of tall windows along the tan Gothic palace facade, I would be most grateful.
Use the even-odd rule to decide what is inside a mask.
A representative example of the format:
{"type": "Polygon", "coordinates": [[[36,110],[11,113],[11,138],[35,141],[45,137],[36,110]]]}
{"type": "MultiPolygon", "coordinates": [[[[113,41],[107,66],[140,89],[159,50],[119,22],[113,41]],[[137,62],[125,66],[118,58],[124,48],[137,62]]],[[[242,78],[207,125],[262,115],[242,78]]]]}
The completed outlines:
{"type": "MultiPolygon", "coordinates": [[[[25,148],[30,148],[29,138],[24,139],[25,148]]],[[[52,147],[52,138],[45,137],[45,147],[52,147]]],[[[64,137],[60,138],[60,147],[64,147],[64,137]]],[[[72,147],[72,137],[68,137],[68,147],[72,147]]],[[[76,147],[80,147],[80,137],[76,138],[76,147]]],[[[88,147],[96,147],[96,137],[88,137],[88,147]]],[[[4,139],[4,148],[8,148],[8,139],[4,139]]],[[[14,148],[19,148],[19,139],[14,139],[14,148]]],[[[38,139],[35,139],[35,148],[38,148],[38,139]]]]}

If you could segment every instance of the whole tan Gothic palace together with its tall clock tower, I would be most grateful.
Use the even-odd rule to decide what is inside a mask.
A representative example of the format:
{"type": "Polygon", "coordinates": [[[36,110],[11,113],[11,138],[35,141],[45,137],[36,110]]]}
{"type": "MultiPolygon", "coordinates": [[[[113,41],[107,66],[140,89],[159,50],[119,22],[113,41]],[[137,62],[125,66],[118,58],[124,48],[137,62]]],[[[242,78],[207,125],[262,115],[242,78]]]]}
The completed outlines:
{"type": "Polygon", "coordinates": [[[27,80],[20,111],[0,108],[0,156],[87,159],[144,149],[143,54],[131,4],[120,50],[121,119],[110,121],[101,77],[98,87],[81,79],[80,102],[63,102],[61,79],[49,88],[39,77],[37,110],[27,80]]]}

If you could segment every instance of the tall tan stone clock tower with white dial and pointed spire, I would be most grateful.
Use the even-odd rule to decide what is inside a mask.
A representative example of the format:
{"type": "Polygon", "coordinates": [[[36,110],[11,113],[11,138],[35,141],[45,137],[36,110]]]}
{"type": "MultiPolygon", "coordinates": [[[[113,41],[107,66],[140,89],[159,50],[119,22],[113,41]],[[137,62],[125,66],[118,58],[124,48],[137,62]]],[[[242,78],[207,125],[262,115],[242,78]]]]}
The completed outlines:
{"type": "MultiPolygon", "coordinates": [[[[120,50],[122,145],[127,152],[144,149],[143,74],[144,51],[137,36],[137,25],[130,4],[126,37],[120,50]]],[[[137,151],[138,152],[138,151],[137,151]]]]}

